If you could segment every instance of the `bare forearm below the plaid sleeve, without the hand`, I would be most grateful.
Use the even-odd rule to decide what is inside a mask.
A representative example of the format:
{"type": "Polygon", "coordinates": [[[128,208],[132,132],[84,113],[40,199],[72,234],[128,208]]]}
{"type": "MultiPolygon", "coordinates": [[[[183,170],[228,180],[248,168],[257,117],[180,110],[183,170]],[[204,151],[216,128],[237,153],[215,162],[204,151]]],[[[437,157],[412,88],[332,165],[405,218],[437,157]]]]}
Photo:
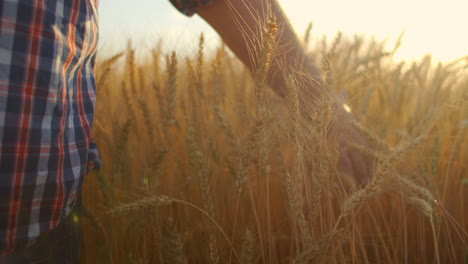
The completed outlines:
{"type": "Polygon", "coordinates": [[[287,94],[285,73],[293,73],[305,111],[305,105],[312,105],[320,96],[323,89],[320,71],[306,56],[276,0],[219,0],[214,5],[201,8],[198,13],[252,72],[258,67],[258,53],[263,48],[260,39],[262,25],[265,24],[259,21],[265,22],[273,14],[280,31],[276,36],[278,45],[272,58],[268,84],[284,97],[287,94]]]}

